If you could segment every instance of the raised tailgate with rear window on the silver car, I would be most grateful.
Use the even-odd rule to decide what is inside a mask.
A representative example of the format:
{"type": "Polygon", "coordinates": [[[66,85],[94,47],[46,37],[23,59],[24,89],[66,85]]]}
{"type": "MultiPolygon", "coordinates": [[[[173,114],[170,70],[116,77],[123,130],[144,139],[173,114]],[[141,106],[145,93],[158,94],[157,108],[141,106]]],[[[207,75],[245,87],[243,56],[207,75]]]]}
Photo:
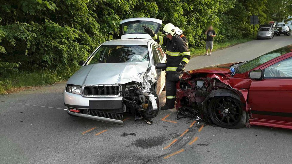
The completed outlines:
{"type": "Polygon", "coordinates": [[[129,18],[120,22],[121,39],[152,39],[144,32],[143,25],[150,27],[158,33],[162,20],[155,18],[129,18]]]}

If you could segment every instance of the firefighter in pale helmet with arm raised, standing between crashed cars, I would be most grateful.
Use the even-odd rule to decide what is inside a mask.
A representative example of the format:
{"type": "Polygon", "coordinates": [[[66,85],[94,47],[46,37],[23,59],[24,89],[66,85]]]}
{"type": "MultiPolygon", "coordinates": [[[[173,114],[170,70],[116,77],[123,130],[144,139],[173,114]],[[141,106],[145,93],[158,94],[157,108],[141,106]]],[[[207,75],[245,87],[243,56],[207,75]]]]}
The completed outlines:
{"type": "Polygon", "coordinates": [[[161,109],[172,109],[176,100],[176,83],[179,81],[179,74],[190,60],[190,51],[185,41],[177,34],[173,24],[168,23],[164,26],[163,37],[157,36],[149,27],[143,27],[145,33],[148,33],[154,41],[166,46],[166,103],[161,109]]]}

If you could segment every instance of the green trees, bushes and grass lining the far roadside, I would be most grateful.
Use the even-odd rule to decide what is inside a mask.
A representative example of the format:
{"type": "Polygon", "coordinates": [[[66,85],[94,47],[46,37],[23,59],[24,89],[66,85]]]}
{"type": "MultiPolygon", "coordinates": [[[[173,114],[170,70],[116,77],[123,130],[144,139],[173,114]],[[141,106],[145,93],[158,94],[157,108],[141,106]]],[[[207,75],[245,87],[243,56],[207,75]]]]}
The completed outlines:
{"type": "Polygon", "coordinates": [[[249,17],[253,14],[259,16],[260,24],[289,21],[291,3],[291,0],[2,0],[0,94],[16,87],[66,80],[79,68],[79,61],[85,60],[99,44],[120,37],[119,22],[126,18],[158,18],[162,27],[172,23],[184,31],[193,55],[201,55],[205,29],[210,24],[216,31],[214,48],[227,47],[252,38],[249,17]]]}

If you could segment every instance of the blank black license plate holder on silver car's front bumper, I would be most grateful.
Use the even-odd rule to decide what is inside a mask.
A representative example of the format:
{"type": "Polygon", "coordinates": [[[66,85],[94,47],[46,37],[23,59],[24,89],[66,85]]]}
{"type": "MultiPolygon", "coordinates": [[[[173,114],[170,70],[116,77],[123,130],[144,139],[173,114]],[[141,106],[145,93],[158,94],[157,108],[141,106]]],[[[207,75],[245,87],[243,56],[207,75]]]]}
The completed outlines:
{"type": "Polygon", "coordinates": [[[120,109],[122,100],[89,100],[89,109],[120,109]]]}

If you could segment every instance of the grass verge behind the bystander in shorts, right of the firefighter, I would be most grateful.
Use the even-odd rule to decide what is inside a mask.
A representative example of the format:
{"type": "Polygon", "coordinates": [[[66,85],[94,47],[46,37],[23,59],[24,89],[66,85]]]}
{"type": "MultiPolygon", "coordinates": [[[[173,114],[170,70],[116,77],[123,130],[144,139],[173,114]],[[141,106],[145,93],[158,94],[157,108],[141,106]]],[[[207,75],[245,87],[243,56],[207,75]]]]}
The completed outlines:
{"type": "MultiPolygon", "coordinates": [[[[253,40],[252,38],[245,38],[245,39],[236,39],[236,40],[230,40],[224,43],[217,43],[216,41],[214,41],[214,45],[213,45],[213,50],[212,52],[219,50],[219,49],[223,49],[226,47],[230,47],[230,46],[234,46],[236,44],[240,44],[240,43],[245,43],[248,41],[253,40]]],[[[205,46],[204,47],[196,47],[193,49],[190,49],[190,54],[191,56],[198,56],[198,55],[204,55],[206,53],[206,49],[205,46]]],[[[210,50],[209,52],[210,53],[210,50]]]]}

